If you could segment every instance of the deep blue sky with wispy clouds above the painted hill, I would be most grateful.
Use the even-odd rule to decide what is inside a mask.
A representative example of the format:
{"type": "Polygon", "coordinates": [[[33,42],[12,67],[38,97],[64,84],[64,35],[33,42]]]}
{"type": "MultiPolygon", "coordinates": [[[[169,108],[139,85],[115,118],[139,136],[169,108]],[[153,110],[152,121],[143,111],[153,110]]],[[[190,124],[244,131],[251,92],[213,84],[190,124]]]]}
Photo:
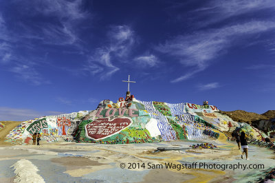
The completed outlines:
{"type": "Polygon", "coordinates": [[[0,120],[100,100],[275,109],[275,1],[0,0],[0,120]]]}

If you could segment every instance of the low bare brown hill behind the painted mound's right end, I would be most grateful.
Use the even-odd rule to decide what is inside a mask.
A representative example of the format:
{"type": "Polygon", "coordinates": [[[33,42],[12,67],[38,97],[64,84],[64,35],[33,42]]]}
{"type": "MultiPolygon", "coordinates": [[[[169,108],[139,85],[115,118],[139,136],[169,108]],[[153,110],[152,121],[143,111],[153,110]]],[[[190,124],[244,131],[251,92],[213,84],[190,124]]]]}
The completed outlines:
{"type": "Polygon", "coordinates": [[[267,116],[256,114],[254,112],[247,112],[243,110],[236,111],[221,111],[221,114],[225,114],[237,122],[251,123],[254,120],[268,120],[267,116]]]}

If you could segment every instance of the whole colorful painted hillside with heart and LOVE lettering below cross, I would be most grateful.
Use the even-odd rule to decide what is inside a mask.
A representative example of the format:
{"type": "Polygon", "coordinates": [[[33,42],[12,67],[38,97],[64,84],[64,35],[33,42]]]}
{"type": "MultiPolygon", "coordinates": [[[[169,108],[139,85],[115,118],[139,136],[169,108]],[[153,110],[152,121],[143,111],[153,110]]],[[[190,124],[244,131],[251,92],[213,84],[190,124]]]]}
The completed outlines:
{"type": "MultiPolygon", "coordinates": [[[[47,142],[74,138],[76,142],[124,144],[217,139],[222,131],[234,129],[241,129],[241,123],[221,114],[213,105],[144,102],[127,96],[116,103],[102,100],[93,111],[43,116],[22,122],[6,138],[28,144],[32,134],[39,132],[47,142]]],[[[250,129],[254,138],[263,137],[252,127],[245,129],[250,129]]]]}

